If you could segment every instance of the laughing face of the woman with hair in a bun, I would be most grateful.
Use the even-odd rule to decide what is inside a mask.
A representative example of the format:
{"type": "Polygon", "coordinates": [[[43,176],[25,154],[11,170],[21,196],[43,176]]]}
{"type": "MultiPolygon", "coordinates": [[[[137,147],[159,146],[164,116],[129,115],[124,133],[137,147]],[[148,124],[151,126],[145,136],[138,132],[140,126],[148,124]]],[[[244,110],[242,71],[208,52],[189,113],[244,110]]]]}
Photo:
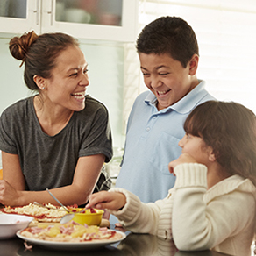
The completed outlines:
{"type": "Polygon", "coordinates": [[[62,108],[83,110],[89,76],[82,51],[78,46],[68,46],[55,61],[52,77],[46,79],[47,97],[62,108]]]}

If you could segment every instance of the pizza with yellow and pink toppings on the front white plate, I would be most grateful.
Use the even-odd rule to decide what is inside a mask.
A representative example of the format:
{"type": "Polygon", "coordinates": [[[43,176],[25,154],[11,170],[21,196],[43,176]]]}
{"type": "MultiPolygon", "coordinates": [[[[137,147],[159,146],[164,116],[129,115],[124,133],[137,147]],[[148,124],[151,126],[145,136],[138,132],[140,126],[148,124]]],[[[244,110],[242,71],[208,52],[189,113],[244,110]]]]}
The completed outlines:
{"type": "Polygon", "coordinates": [[[67,224],[38,224],[20,231],[20,235],[25,238],[69,243],[119,240],[123,238],[120,232],[109,230],[107,227],[82,225],[74,221],[70,221],[67,224]]]}

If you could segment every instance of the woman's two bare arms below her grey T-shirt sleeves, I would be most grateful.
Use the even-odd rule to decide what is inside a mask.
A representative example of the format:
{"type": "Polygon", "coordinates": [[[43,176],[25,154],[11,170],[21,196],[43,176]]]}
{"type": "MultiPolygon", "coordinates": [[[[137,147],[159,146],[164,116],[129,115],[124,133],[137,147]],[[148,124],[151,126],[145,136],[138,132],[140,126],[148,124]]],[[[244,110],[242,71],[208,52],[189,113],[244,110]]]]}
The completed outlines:
{"type": "MultiPolygon", "coordinates": [[[[25,179],[19,166],[18,155],[2,153],[2,159],[4,180],[0,182],[1,203],[11,206],[26,205],[34,201],[56,204],[47,191],[25,191],[25,179]]],[[[65,205],[86,203],[95,188],[104,160],[103,154],[79,158],[72,184],[51,189],[53,195],[65,205]]]]}

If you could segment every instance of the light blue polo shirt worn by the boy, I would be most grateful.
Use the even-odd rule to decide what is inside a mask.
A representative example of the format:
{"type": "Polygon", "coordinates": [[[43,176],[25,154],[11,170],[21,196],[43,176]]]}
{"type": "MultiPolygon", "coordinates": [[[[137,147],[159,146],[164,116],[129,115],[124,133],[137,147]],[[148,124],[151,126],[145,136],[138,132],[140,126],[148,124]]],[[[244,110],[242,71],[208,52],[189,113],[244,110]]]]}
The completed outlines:
{"type": "Polygon", "coordinates": [[[117,188],[125,188],[144,203],[167,196],[175,177],[168,163],[181,154],[178,142],[184,136],[183,123],[198,104],[216,100],[200,83],[179,102],[157,110],[151,91],[140,94],[132,106],[127,124],[124,157],[117,188]]]}

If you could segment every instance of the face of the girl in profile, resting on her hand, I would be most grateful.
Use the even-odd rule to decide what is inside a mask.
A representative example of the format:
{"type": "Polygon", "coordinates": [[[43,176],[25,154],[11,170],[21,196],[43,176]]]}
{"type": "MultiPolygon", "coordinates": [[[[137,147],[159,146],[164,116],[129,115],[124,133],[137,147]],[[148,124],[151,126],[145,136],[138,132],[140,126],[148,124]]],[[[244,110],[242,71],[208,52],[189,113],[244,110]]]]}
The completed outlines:
{"type": "Polygon", "coordinates": [[[179,142],[182,153],[188,153],[197,163],[208,166],[212,149],[207,146],[200,137],[186,134],[179,142]]]}

